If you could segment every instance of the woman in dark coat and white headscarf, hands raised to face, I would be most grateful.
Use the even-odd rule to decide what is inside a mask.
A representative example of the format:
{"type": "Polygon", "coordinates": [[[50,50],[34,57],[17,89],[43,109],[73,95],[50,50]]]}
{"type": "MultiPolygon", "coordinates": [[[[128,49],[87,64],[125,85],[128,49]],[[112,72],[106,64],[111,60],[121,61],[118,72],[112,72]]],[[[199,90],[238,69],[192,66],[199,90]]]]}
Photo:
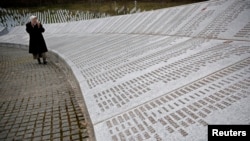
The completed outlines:
{"type": "Polygon", "coordinates": [[[36,16],[30,17],[30,22],[26,24],[26,31],[30,36],[29,53],[33,54],[34,59],[37,59],[39,64],[41,64],[40,58],[43,58],[43,63],[47,64],[45,53],[48,52],[48,49],[42,35],[45,29],[36,16]]]}

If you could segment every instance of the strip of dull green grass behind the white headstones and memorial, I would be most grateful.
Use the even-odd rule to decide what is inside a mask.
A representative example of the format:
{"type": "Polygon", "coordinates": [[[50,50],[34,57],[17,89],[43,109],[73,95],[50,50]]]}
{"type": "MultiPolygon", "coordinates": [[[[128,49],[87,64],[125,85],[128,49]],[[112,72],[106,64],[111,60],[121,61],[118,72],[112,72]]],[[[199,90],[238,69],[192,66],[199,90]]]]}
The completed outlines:
{"type": "MultiPolygon", "coordinates": [[[[175,1],[175,2],[137,2],[137,8],[140,8],[141,10],[156,10],[161,8],[167,8],[167,7],[173,7],[173,6],[179,6],[179,5],[185,5],[193,3],[194,0],[182,0],[182,1],[175,1]]],[[[202,0],[201,0],[202,1],[202,0]]],[[[118,8],[121,8],[122,6],[126,6],[130,10],[134,8],[134,2],[127,2],[121,3],[116,2],[116,6],[118,8]]],[[[14,7],[13,7],[14,8],[14,7]]],[[[116,15],[114,9],[115,9],[115,3],[114,2],[102,2],[100,4],[90,4],[86,2],[78,2],[73,4],[57,4],[57,5],[48,5],[48,6],[37,6],[37,7],[15,7],[14,9],[28,9],[30,12],[35,11],[44,11],[44,10],[58,10],[58,9],[67,9],[67,10],[80,10],[80,11],[91,11],[91,12],[101,12],[101,13],[107,13],[110,15],[116,15]]]]}

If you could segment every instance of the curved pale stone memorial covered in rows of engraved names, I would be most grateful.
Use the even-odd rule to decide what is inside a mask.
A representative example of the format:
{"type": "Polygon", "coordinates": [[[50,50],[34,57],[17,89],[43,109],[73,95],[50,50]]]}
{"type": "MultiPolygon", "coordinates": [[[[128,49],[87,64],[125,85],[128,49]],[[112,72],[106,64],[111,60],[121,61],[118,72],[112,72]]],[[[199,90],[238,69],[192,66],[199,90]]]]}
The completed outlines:
{"type": "MultiPolygon", "coordinates": [[[[98,141],[207,140],[207,124],[250,123],[249,7],[208,1],[44,25],[44,36],[77,77],[98,141]]],[[[0,42],[28,35],[16,27],[0,42]]]]}

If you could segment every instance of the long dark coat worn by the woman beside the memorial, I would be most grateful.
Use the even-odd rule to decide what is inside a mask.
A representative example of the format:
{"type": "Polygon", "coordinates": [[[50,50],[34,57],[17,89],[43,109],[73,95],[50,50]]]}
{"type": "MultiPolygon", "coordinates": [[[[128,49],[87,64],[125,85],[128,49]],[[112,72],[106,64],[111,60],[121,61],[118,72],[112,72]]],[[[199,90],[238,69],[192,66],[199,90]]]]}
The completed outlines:
{"type": "Polygon", "coordinates": [[[31,22],[29,22],[26,24],[26,31],[30,35],[29,53],[41,54],[48,51],[42,35],[45,31],[42,24],[40,24],[40,27],[38,28],[38,25],[32,27],[31,22]]]}

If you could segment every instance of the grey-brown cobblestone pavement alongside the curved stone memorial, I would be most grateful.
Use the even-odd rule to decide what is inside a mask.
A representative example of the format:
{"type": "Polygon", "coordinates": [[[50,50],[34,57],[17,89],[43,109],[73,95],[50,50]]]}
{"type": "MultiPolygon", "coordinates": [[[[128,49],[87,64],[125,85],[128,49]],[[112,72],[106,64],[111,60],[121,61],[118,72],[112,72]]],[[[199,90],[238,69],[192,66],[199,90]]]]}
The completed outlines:
{"type": "Polygon", "coordinates": [[[0,47],[0,141],[89,140],[77,99],[57,65],[0,47]]]}

